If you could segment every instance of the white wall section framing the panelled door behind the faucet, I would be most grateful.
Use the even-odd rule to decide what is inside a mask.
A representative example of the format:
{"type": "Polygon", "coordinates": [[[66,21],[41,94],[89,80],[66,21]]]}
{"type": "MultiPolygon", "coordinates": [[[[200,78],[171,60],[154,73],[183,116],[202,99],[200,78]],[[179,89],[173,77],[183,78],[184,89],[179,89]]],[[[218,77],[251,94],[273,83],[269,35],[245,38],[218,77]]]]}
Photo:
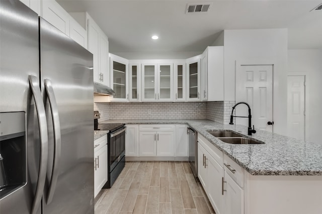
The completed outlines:
{"type": "Polygon", "coordinates": [[[274,132],[286,133],[287,29],[224,31],[224,100],[235,100],[235,63],[274,64],[274,132]]]}

